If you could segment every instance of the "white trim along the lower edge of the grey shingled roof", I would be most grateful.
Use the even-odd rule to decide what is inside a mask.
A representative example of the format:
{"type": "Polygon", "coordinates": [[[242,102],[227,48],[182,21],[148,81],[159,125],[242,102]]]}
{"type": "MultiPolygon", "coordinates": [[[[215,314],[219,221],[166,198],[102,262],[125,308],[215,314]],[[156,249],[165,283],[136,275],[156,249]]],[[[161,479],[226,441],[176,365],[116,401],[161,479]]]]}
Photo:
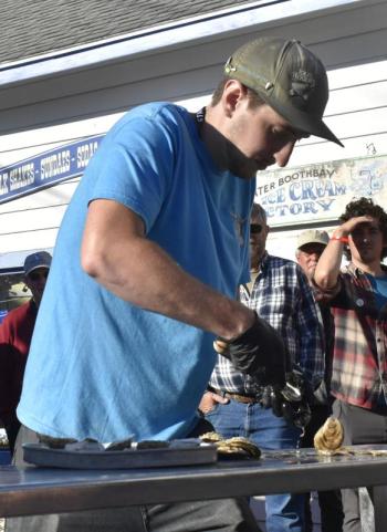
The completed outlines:
{"type": "MultiPolygon", "coordinates": [[[[259,0],[202,17],[146,28],[119,38],[88,43],[46,55],[0,65],[0,87],[41,77],[106,65],[163,49],[187,46],[198,41],[223,38],[227,33],[247,33],[253,28],[280,25],[290,19],[321,15],[343,10],[365,0],[259,0]]],[[[373,3],[373,0],[367,0],[373,3]]]]}

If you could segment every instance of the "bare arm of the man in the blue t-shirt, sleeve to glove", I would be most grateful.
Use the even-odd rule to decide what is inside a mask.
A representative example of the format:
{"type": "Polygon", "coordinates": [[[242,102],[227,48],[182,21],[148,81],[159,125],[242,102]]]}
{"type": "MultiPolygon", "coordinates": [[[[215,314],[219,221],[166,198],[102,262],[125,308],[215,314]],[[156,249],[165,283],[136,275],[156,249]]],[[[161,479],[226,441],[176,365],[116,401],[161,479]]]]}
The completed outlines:
{"type": "Polygon", "coordinates": [[[102,209],[101,204],[94,209],[93,205],[84,236],[82,264],[98,283],[137,306],[224,338],[238,336],[252,325],[254,313],[251,310],[184,271],[143,234],[143,225],[136,215],[116,205],[104,202],[102,209]],[[124,223],[108,217],[104,227],[115,227],[114,233],[95,229],[101,216],[106,217],[104,209],[109,213],[111,208],[113,218],[118,211],[124,223]]]}

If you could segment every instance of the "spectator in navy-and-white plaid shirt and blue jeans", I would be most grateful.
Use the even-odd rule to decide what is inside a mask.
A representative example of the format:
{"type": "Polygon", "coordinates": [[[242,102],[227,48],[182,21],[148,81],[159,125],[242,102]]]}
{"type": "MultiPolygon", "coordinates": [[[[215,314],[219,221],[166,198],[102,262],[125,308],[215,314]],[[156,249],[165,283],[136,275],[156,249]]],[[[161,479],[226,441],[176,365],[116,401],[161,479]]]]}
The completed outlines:
{"type": "MultiPolygon", "coordinates": [[[[313,293],[295,262],[265,251],[268,233],[265,211],[255,204],[251,215],[251,282],[241,286],[240,299],[281,333],[292,362],[315,388],[324,374],[324,361],[313,293]]],[[[301,429],[264,408],[251,378],[237,372],[227,358],[218,356],[209,389],[200,410],[223,437],[244,436],[264,449],[296,447],[301,429]]],[[[303,531],[304,496],[270,496],[265,505],[268,532],[303,531]]]]}

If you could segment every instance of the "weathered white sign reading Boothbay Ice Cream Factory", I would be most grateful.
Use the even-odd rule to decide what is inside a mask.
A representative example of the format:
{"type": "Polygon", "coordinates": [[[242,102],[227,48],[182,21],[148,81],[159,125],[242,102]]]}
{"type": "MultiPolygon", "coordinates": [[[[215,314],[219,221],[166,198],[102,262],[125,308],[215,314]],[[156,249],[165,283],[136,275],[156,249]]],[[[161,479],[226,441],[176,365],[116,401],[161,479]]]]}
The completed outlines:
{"type": "Polygon", "coordinates": [[[255,200],[271,226],[336,220],[354,197],[387,201],[387,156],[260,171],[255,200]]]}

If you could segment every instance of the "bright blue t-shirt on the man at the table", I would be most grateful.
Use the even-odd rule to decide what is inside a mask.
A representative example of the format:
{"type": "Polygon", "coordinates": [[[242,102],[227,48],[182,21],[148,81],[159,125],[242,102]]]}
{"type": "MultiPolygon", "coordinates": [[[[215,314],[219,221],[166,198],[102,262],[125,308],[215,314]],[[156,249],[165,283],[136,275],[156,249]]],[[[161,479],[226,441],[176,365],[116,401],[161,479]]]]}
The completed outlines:
{"type": "Polygon", "coordinates": [[[215,167],[195,121],[174,104],[137,107],[112,128],[59,231],[18,408],[25,426],[103,442],[189,432],[215,365],[213,336],[123,301],[84,273],[87,205],[128,207],[184,270],[234,298],[249,279],[254,186],[215,167]]]}

